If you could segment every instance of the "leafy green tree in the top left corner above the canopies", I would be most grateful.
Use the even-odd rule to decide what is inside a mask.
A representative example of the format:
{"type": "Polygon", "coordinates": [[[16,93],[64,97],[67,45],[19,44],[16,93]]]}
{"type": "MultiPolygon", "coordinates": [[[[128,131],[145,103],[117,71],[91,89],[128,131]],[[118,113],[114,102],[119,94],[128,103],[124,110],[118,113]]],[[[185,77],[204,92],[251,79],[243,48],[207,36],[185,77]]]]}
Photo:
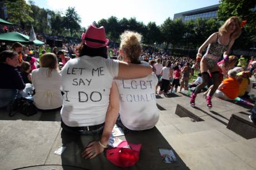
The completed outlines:
{"type": "Polygon", "coordinates": [[[29,16],[33,13],[31,6],[29,6],[24,0],[6,1],[8,20],[9,22],[21,25],[24,28],[25,25],[31,25],[34,19],[29,16]]]}

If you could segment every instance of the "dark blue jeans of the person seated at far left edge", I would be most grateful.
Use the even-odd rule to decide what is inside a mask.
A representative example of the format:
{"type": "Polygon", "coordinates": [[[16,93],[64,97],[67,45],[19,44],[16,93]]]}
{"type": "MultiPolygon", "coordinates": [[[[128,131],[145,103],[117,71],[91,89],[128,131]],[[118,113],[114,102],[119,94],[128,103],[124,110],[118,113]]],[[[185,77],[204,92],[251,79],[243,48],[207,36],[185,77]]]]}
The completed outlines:
{"type": "Polygon", "coordinates": [[[18,94],[17,89],[0,89],[0,107],[6,107],[18,94]]]}

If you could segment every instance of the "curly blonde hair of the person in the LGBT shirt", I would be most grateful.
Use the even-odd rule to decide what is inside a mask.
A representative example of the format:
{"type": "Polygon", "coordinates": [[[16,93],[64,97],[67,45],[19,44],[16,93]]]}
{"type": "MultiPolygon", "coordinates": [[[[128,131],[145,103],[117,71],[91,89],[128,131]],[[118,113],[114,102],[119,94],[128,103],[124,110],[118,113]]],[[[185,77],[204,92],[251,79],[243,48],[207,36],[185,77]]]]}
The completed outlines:
{"type": "Polygon", "coordinates": [[[141,34],[127,30],[120,35],[120,49],[124,51],[131,63],[140,64],[141,38],[141,34]]]}

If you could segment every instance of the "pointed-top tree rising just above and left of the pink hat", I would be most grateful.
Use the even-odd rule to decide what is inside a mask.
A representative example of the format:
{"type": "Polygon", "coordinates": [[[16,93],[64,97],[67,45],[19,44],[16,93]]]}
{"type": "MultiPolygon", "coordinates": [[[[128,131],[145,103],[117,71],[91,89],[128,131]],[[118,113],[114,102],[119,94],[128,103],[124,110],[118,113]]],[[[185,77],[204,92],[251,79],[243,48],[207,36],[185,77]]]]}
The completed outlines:
{"type": "Polygon", "coordinates": [[[81,29],[81,26],[80,26],[81,18],[77,14],[75,8],[68,7],[66,10],[66,15],[63,19],[65,20],[64,27],[70,32],[71,37],[75,31],[78,31],[81,29]]]}

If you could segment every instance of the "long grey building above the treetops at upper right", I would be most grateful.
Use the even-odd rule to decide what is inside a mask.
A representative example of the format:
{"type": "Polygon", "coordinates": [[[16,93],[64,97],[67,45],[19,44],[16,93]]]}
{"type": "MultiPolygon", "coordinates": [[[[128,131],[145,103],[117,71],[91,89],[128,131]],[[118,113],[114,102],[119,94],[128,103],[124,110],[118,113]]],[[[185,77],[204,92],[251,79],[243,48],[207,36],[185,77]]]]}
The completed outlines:
{"type": "Polygon", "coordinates": [[[204,19],[210,19],[214,18],[216,19],[218,17],[218,9],[219,4],[216,4],[214,6],[194,9],[191,11],[181,12],[174,14],[173,20],[181,18],[183,22],[186,22],[188,20],[195,20],[197,18],[204,18],[204,19]]]}

